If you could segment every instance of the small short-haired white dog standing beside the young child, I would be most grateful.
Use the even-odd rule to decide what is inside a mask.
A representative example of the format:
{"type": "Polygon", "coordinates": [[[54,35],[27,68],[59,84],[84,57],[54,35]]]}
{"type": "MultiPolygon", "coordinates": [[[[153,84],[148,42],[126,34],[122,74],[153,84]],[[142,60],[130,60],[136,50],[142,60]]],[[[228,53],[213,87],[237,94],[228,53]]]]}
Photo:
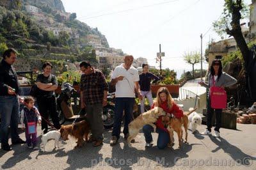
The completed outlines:
{"type": "Polygon", "coordinates": [[[45,145],[51,139],[55,140],[55,148],[60,148],[60,145],[59,145],[60,132],[58,130],[49,131],[47,134],[43,134],[43,132],[44,130],[42,130],[42,137],[41,137],[42,143],[40,144],[40,148],[43,148],[45,151],[45,145]]]}

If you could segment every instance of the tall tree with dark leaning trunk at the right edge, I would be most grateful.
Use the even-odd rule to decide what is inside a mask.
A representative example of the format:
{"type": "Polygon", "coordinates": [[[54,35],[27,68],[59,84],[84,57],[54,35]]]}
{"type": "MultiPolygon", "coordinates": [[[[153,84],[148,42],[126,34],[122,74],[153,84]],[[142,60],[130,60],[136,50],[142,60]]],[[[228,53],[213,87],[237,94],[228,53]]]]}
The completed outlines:
{"type": "Polygon", "coordinates": [[[221,21],[223,20],[222,18],[220,19],[220,22],[216,22],[214,27],[216,28],[216,31],[223,31],[227,33],[227,35],[233,36],[236,40],[237,46],[239,47],[243,56],[247,91],[249,92],[249,96],[253,101],[256,100],[256,73],[251,72],[250,70],[250,65],[253,62],[253,58],[241,29],[241,19],[246,16],[246,11],[248,10],[243,0],[225,0],[223,17],[227,17],[228,20],[223,22],[221,21]]]}

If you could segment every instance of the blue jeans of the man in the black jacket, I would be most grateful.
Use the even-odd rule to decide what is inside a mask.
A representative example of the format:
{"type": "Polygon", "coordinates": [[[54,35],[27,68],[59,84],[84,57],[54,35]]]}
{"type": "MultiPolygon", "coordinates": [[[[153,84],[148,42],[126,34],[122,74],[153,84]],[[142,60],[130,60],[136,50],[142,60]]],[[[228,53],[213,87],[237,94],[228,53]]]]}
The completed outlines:
{"type": "Polygon", "coordinates": [[[0,96],[1,143],[8,144],[8,127],[11,127],[12,141],[19,139],[19,99],[16,96],[0,96]]]}

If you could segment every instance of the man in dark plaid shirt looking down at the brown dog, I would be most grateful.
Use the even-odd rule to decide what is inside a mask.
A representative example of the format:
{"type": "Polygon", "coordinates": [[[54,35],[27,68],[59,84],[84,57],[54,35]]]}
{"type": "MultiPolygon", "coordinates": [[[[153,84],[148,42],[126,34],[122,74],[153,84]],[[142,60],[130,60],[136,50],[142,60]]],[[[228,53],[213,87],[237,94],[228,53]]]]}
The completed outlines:
{"type": "Polygon", "coordinates": [[[83,72],[80,83],[81,108],[85,107],[92,130],[89,141],[93,142],[93,146],[100,146],[103,141],[102,107],[108,104],[108,83],[104,74],[94,70],[87,61],[82,61],[79,66],[83,72]]]}

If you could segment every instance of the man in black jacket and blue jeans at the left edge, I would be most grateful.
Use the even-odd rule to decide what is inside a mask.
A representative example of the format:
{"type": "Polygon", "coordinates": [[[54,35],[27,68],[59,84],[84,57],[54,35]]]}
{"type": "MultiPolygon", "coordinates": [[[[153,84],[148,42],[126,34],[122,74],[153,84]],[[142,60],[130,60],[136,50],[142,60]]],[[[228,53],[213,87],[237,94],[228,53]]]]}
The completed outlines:
{"type": "Polygon", "coordinates": [[[11,127],[12,144],[25,143],[18,134],[19,123],[19,82],[12,65],[17,59],[15,49],[4,51],[0,63],[0,114],[1,114],[1,148],[12,150],[8,144],[8,127],[11,127]]]}

